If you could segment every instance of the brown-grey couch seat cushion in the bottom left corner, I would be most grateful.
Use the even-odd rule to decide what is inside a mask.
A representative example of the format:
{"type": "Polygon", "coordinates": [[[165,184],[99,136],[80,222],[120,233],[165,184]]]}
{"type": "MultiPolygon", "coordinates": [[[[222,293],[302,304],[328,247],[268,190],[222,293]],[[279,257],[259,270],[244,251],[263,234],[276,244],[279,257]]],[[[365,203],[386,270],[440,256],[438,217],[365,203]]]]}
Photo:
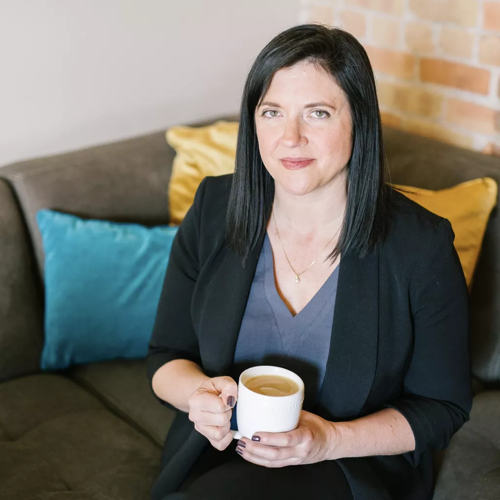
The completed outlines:
{"type": "Polygon", "coordinates": [[[6,498],[149,498],[159,447],[65,376],[0,384],[0,428],[6,498]]]}

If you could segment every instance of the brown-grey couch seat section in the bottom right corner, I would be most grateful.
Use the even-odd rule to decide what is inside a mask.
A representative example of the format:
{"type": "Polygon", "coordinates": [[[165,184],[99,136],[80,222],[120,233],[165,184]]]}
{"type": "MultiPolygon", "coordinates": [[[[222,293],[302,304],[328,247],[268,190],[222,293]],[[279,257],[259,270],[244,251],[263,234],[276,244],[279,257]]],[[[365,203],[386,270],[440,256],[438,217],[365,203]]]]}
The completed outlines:
{"type": "Polygon", "coordinates": [[[500,498],[500,391],[474,397],[470,420],[445,451],[433,500],[500,498]]]}

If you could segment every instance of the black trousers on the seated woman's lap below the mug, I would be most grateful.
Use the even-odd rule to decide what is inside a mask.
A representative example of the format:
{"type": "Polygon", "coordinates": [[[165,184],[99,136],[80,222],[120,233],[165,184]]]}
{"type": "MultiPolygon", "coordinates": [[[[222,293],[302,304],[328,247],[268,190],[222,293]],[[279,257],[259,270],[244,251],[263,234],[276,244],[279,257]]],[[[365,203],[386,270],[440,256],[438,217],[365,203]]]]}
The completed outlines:
{"type": "Polygon", "coordinates": [[[234,448],[208,445],[176,493],[163,500],[353,500],[349,483],[334,460],[267,468],[247,462],[234,448]]]}

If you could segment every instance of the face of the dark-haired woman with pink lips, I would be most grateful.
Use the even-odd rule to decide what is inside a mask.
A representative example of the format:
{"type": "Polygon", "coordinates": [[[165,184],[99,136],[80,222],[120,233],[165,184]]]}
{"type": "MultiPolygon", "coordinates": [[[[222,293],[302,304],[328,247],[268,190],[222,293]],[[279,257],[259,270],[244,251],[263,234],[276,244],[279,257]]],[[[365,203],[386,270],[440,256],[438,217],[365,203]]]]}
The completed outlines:
{"type": "Polygon", "coordinates": [[[333,78],[314,64],[299,62],[274,73],[255,110],[255,125],[276,188],[307,194],[345,173],[352,148],[349,105],[333,78]]]}

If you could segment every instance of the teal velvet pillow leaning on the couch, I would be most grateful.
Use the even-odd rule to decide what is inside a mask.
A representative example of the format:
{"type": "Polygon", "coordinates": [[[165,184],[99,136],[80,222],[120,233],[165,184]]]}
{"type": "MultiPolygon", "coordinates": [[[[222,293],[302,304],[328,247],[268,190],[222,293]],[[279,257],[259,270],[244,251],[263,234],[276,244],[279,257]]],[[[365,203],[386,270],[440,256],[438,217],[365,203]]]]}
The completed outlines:
{"type": "Polygon", "coordinates": [[[177,227],[39,210],[45,254],[42,370],[147,353],[177,227]]]}

